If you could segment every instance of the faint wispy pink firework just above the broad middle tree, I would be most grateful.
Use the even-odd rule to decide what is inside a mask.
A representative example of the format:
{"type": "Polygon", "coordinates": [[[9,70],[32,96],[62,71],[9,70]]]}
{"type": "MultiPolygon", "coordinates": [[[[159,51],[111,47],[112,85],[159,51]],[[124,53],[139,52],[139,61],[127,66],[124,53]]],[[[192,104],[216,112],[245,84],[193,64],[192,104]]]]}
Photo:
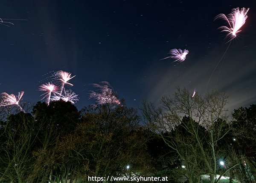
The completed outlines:
{"type": "Polygon", "coordinates": [[[92,85],[97,89],[95,91],[90,91],[89,99],[95,99],[96,105],[109,103],[116,106],[120,104],[116,92],[114,92],[112,86],[107,81],[102,81],[99,84],[93,83],[92,85]]]}

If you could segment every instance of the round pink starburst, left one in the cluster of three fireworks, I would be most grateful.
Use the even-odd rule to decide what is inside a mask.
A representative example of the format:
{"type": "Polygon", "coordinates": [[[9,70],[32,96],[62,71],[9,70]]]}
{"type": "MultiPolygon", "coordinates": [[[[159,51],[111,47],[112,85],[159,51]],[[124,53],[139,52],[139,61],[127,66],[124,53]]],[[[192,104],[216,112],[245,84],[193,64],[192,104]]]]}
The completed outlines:
{"type": "Polygon", "coordinates": [[[51,94],[53,94],[54,97],[59,95],[58,86],[55,86],[52,83],[46,83],[46,84],[43,84],[43,85],[39,86],[39,90],[45,92],[44,94],[42,94],[42,95],[44,95],[42,100],[44,98],[47,98],[47,100],[46,100],[47,105],[49,105],[49,103],[50,103],[51,94]]]}

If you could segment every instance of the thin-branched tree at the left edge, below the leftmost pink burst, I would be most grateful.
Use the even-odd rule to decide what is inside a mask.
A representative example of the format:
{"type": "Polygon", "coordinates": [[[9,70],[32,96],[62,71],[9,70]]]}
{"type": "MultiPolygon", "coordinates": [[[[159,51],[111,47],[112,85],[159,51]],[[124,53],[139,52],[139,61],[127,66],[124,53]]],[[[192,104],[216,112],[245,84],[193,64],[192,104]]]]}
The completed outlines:
{"type": "Polygon", "coordinates": [[[32,172],[32,156],[38,132],[31,114],[11,114],[2,124],[0,181],[24,183],[32,172]]]}

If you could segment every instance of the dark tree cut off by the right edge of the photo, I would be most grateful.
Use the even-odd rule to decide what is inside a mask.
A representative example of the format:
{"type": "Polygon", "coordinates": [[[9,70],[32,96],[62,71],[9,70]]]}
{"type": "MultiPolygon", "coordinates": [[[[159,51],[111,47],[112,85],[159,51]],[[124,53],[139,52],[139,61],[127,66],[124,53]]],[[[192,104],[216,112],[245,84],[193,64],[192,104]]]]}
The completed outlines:
{"type": "Polygon", "coordinates": [[[256,177],[256,105],[235,109],[232,116],[232,144],[236,150],[234,157],[243,159],[236,176],[241,181],[251,183],[256,177]]]}

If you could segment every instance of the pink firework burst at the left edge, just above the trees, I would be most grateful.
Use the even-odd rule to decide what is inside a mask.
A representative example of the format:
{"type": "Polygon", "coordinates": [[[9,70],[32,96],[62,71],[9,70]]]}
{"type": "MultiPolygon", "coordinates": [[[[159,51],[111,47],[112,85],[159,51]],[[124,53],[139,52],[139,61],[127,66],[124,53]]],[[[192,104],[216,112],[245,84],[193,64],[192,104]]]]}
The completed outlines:
{"type": "Polygon", "coordinates": [[[0,106],[12,106],[15,105],[17,106],[20,111],[24,110],[20,106],[19,102],[23,96],[24,92],[19,92],[19,95],[16,97],[14,94],[7,94],[6,92],[3,92],[2,95],[2,100],[0,102],[0,106]]]}

